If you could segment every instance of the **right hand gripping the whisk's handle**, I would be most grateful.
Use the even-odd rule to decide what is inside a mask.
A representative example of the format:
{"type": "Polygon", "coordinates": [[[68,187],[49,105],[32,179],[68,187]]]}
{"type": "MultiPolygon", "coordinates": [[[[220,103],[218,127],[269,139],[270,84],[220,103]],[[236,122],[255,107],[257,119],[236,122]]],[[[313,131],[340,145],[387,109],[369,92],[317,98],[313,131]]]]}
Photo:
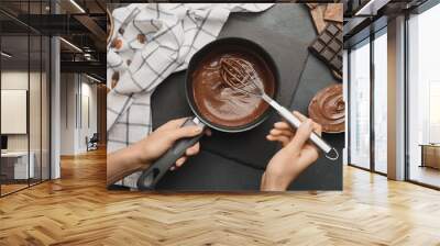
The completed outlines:
{"type": "Polygon", "coordinates": [[[271,159],[263,174],[263,191],[286,190],[319,157],[318,148],[308,139],[314,131],[320,135],[321,126],[299,112],[294,114],[301,121],[296,132],[286,122],[277,122],[267,135],[268,141],[279,142],[283,148],[271,159]]]}

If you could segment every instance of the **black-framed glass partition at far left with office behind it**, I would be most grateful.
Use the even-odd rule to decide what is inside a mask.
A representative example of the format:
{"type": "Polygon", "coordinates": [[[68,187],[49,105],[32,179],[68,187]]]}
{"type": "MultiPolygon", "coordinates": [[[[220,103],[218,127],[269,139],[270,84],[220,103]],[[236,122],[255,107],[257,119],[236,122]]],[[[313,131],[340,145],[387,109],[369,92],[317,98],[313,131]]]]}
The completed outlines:
{"type": "Polygon", "coordinates": [[[50,48],[47,36],[18,21],[47,12],[47,1],[1,1],[0,195],[50,179],[50,48]],[[18,16],[18,18],[14,18],[18,16]]]}

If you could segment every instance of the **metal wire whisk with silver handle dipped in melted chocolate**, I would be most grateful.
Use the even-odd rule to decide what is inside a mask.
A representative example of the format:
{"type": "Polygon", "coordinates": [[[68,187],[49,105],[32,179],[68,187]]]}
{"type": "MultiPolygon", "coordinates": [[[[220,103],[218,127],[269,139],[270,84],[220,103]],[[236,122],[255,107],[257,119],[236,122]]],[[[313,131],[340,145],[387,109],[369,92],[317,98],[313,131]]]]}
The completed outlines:
{"type": "MultiPolygon", "coordinates": [[[[240,90],[250,96],[261,97],[272,108],[274,108],[279,115],[282,115],[293,127],[298,128],[301,122],[298,118],[290,113],[289,110],[277,103],[264,91],[264,85],[258,81],[260,77],[253,68],[252,64],[245,59],[238,57],[222,57],[220,59],[220,75],[223,82],[230,88],[240,90]]],[[[309,139],[319,147],[326,157],[336,160],[339,154],[336,148],[330,146],[317,133],[312,132],[309,139]]]]}

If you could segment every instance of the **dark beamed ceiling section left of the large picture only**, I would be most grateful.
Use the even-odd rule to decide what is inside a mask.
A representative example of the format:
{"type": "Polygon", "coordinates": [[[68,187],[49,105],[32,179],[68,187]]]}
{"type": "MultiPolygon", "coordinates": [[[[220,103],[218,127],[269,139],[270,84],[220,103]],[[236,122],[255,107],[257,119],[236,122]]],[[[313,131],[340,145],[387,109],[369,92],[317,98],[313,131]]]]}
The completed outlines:
{"type": "Polygon", "coordinates": [[[86,72],[105,80],[106,26],[105,0],[52,0],[52,4],[50,0],[1,0],[1,47],[12,55],[2,56],[2,67],[24,69],[40,64],[48,52],[40,47],[41,38],[54,35],[64,40],[62,71],[86,72]]]}

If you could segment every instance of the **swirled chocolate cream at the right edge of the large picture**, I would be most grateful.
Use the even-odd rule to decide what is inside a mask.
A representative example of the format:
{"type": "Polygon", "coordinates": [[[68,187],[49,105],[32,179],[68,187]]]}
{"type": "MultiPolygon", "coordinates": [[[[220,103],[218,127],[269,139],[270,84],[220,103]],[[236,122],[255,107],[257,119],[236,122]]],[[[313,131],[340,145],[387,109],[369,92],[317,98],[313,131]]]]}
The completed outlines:
{"type": "Polygon", "coordinates": [[[345,103],[342,85],[332,85],[320,90],[309,104],[309,116],[322,125],[324,133],[345,131],[345,103]]]}

